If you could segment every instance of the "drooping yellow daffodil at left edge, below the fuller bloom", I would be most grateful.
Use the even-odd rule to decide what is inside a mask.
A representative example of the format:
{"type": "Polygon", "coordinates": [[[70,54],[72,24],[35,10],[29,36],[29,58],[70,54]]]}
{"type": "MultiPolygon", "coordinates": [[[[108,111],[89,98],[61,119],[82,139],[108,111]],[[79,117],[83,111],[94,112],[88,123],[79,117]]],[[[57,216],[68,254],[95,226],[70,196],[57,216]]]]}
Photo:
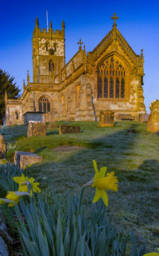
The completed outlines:
{"type": "Polygon", "coordinates": [[[28,192],[8,192],[6,198],[0,198],[0,204],[8,204],[9,207],[14,207],[14,204],[17,204],[22,196],[29,196],[28,192]]]}

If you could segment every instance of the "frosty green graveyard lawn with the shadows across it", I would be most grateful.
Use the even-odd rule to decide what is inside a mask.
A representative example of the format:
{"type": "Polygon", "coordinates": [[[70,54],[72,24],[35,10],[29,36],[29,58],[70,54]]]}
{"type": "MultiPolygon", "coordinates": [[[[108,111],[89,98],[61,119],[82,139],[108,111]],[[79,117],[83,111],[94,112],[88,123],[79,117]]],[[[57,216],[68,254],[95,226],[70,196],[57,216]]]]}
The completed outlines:
{"type": "MultiPolygon", "coordinates": [[[[58,134],[58,129],[52,129],[46,136],[27,138],[26,126],[2,127],[8,159],[13,160],[15,150],[44,157],[42,163],[26,171],[41,184],[43,196],[53,190],[63,206],[68,194],[79,193],[95,175],[94,159],[98,167],[107,166],[107,172],[114,172],[118,178],[118,192],[107,192],[108,215],[118,229],[124,228],[126,233],[133,230],[146,242],[148,251],[155,250],[159,246],[158,134],[146,132],[146,124],[138,122],[115,122],[114,127],[99,127],[99,122],[67,124],[80,126],[81,134],[58,134]],[[130,129],[136,133],[128,133],[130,129]],[[53,150],[61,145],[85,149],[66,153],[53,150]]],[[[95,189],[85,189],[83,204],[88,210],[94,196],[95,189]]]]}

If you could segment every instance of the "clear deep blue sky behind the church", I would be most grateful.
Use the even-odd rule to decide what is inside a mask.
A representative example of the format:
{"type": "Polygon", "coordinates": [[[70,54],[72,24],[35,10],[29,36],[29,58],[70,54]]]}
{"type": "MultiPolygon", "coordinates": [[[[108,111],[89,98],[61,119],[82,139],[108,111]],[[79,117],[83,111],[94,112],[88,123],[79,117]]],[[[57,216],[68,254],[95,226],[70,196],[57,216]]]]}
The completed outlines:
{"type": "Polygon", "coordinates": [[[32,35],[35,18],[40,27],[48,21],[53,29],[60,29],[65,22],[66,62],[78,50],[80,37],[87,51],[111,30],[111,16],[118,16],[118,29],[136,54],[144,50],[144,96],[145,107],[159,99],[159,2],[158,1],[1,1],[0,5],[0,68],[6,70],[19,88],[26,81],[27,70],[33,77],[32,35]]]}

